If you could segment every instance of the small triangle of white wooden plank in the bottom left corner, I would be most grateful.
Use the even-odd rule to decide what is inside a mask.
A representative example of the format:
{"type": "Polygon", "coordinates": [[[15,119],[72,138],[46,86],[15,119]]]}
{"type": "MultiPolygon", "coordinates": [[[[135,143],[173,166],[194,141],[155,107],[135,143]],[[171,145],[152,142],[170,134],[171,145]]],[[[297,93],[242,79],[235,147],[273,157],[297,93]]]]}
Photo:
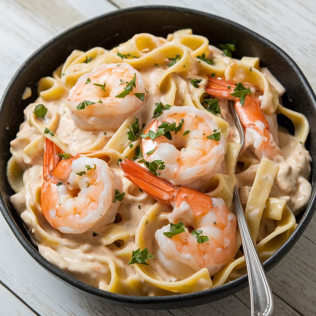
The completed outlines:
{"type": "Polygon", "coordinates": [[[1,314],[15,316],[35,316],[25,304],[0,283],[1,314]]]}

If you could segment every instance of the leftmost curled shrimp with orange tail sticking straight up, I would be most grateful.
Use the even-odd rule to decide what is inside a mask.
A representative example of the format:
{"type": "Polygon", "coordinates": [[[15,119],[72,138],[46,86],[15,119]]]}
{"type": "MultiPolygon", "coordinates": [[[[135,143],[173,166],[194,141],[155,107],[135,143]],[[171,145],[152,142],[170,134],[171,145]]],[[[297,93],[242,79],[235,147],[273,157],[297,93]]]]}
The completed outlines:
{"type": "Polygon", "coordinates": [[[62,233],[79,234],[102,218],[114,221],[119,201],[113,203],[115,189],[122,182],[98,158],[78,154],[60,160],[60,149],[46,139],[41,191],[41,208],[46,220],[62,233]]]}

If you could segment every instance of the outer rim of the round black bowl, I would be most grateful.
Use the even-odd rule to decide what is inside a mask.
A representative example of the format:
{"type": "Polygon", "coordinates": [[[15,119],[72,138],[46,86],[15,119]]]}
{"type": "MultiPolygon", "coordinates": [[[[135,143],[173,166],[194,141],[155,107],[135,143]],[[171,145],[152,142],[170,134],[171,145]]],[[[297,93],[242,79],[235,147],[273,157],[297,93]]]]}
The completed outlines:
{"type": "MultiPolygon", "coordinates": [[[[115,15],[124,14],[126,12],[137,12],[142,10],[171,10],[171,11],[180,11],[182,13],[191,13],[194,15],[199,15],[201,17],[211,17],[213,19],[217,19],[219,21],[222,21],[223,23],[226,23],[230,27],[234,27],[237,29],[240,29],[241,31],[245,32],[247,35],[251,35],[252,37],[259,40],[261,43],[263,43],[265,46],[268,46],[270,49],[273,49],[276,51],[289,65],[290,67],[295,71],[296,76],[298,76],[304,90],[306,91],[306,94],[308,98],[310,99],[313,106],[316,108],[316,96],[313,92],[313,89],[311,88],[310,84],[308,83],[306,77],[302,73],[301,69],[298,67],[298,65],[294,62],[292,58],[289,57],[287,53],[285,53],[281,48],[276,46],[274,43],[272,43],[270,40],[265,39],[263,36],[259,35],[256,32],[253,32],[252,30],[248,29],[247,27],[244,27],[236,22],[230,21],[226,18],[213,15],[210,13],[194,10],[194,9],[188,9],[183,7],[176,7],[176,6],[166,6],[166,5],[145,5],[145,6],[136,6],[136,7],[130,7],[126,9],[118,9],[115,11],[110,11],[102,15],[98,15],[96,17],[93,17],[91,19],[88,19],[86,21],[83,21],[79,24],[76,24],[73,27],[68,28],[62,33],[59,33],[55,37],[53,37],[51,40],[46,42],[44,45],[42,45],[40,48],[38,48],[35,52],[33,52],[18,68],[18,70],[15,72],[14,76],[10,80],[8,86],[6,87],[1,102],[0,102],[0,115],[2,112],[2,109],[5,104],[5,99],[10,94],[10,88],[15,84],[15,80],[18,78],[18,76],[21,74],[21,72],[27,68],[27,64],[33,60],[34,58],[37,58],[38,55],[48,46],[51,45],[52,42],[59,39],[60,37],[63,37],[65,34],[71,33],[76,29],[79,29],[81,27],[84,27],[85,25],[88,25],[89,23],[97,20],[106,19],[108,17],[112,17],[115,15]]],[[[293,231],[293,233],[289,236],[288,240],[275,252],[272,254],[270,258],[268,258],[263,266],[266,271],[270,270],[273,266],[275,266],[288,252],[289,250],[295,245],[297,240],[301,237],[302,233],[306,229],[308,223],[313,217],[313,214],[316,209],[316,184],[313,185],[312,189],[312,196],[311,200],[305,210],[304,215],[302,216],[300,222],[298,223],[297,227],[293,231]]],[[[112,292],[108,292],[105,290],[101,290],[98,288],[95,288],[91,285],[88,285],[86,283],[83,283],[76,279],[75,277],[69,275],[64,270],[58,268],[54,264],[50,263],[46,258],[44,258],[40,252],[38,252],[35,247],[27,240],[26,236],[21,232],[19,226],[11,216],[9,210],[5,206],[4,199],[2,195],[0,194],[0,209],[1,212],[8,223],[9,227],[11,228],[12,232],[14,233],[15,237],[19,240],[21,245],[24,247],[24,249],[32,256],[34,260],[36,260],[44,269],[46,269],[48,272],[50,272],[52,275],[60,279],[61,281],[64,281],[65,283],[68,283],[69,285],[81,289],[82,291],[85,291],[89,294],[96,295],[98,297],[105,298],[109,300],[113,304],[120,304],[120,305],[126,305],[126,306],[132,306],[132,307],[138,307],[143,308],[141,305],[138,304],[146,304],[146,307],[150,304],[155,305],[156,304],[163,304],[163,303],[176,303],[181,301],[188,301],[192,299],[198,299],[203,298],[206,296],[216,296],[221,293],[225,293],[226,291],[229,293],[228,295],[231,295],[233,293],[236,293],[237,291],[245,288],[247,286],[247,275],[240,276],[239,278],[225,283],[223,285],[220,285],[215,288],[206,289],[202,291],[192,292],[192,293],[186,293],[186,294],[175,294],[175,295],[167,295],[167,296],[132,296],[132,295],[122,295],[122,294],[116,294],[112,292]]],[[[226,297],[228,295],[225,295],[223,297],[226,297]]],[[[222,298],[223,298],[222,297],[222,298]]],[[[201,303],[202,304],[202,303],[201,303]]],[[[195,304],[195,305],[198,305],[195,304]]],[[[189,306],[189,305],[188,305],[189,306]]],[[[156,307],[157,308],[157,307],[156,307]]],[[[159,307],[158,307],[159,308],[159,307]]],[[[163,307],[164,308],[164,307],[163,307]]],[[[172,308],[172,307],[171,307],[172,308]]]]}

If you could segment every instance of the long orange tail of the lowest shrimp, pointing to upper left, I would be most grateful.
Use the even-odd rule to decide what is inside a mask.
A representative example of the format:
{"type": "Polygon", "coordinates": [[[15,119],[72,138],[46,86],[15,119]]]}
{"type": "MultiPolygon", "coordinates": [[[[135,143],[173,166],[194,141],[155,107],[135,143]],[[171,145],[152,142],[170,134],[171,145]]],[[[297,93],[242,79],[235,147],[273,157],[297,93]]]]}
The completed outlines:
{"type": "Polygon", "coordinates": [[[124,159],[119,163],[124,175],[132,183],[161,203],[170,204],[178,187],[158,178],[136,162],[124,159]]]}

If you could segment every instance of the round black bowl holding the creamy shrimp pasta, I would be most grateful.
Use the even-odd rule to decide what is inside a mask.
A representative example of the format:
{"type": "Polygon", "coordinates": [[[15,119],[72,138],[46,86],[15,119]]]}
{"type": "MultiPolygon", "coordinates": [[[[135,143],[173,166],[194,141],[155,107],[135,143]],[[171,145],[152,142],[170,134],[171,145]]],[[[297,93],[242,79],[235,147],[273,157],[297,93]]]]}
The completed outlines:
{"type": "MultiPolygon", "coordinates": [[[[235,42],[234,56],[258,56],[261,65],[268,67],[283,84],[286,107],[307,116],[311,130],[307,142],[313,161],[316,160],[316,97],[305,76],[295,62],[279,47],[251,30],[221,17],[184,8],[145,6],[111,12],[79,24],[58,35],[37,50],[22,64],[7,87],[0,104],[0,208],[10,228],[27,252],[47,271],[73,287],[103,298],[105,301],[137,308],[182,308],[205,304],[236,293],[247,286],[244,275],[233,282],[205,291],[156,297],[136,297],[109,293],[78,281],[48,262],[30,240],[20,217],[9,197],[13,194],[6,178],[6,165],[10,158],[9,142],[15,138],[23,121],[23,109],[37,97],[36,83],[50,76],[74,49],[88,50],[94,46],[110,49],[130,39],[135,33],[152,33],[166,37],[181,28],[192,28],[195,34],[207,37],[215,46],[235,42]],[[32,88],[32,100],[21,100],[25,87],[32,88]]],[[[299,239],[315,211],[315,165],[312,167],[313,193],[300,222],[286,243],[264,263],[265,270],[277,264],[299,239]]]]}

